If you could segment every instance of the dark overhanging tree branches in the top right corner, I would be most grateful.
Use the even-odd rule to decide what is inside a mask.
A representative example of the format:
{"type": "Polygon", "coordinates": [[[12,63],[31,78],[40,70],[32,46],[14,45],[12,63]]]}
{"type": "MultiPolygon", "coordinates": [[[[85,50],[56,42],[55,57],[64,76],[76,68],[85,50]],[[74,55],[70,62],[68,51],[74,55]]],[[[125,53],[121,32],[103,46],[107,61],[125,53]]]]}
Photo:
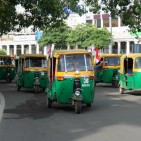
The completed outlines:
{"type": "Polygon", "coordinates": [[[122,23],[129,26],[132,32],[141,31],[141,1],[140,0],[85,0],[90,10],[99,12],[101,6],[105,12],[110,12],[112,18],[118,15],[122,18],[122,23]]]}

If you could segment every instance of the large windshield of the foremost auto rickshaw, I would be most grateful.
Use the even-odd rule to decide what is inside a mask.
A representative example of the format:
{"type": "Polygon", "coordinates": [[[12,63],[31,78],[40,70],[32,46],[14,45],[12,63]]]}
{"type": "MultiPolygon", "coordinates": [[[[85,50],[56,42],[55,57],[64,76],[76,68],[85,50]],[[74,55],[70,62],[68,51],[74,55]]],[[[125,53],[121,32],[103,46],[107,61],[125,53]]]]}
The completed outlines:
{"type": "Polygon", "coordinates": [[[92,70],[91,57],[87,54],[61,55],[58,60],[58,71],[92,70]]]}

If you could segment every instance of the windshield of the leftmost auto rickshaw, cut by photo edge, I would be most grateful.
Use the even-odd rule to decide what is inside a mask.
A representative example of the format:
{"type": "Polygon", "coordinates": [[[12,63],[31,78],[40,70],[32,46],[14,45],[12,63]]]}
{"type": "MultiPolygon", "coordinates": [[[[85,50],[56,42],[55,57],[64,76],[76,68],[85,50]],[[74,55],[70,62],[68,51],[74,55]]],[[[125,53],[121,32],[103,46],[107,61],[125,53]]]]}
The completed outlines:
{"type": "Polygon", "coordinates": [[[14,65],[14,59],[9,57],[0,58],[0,65],[14,65]]]}

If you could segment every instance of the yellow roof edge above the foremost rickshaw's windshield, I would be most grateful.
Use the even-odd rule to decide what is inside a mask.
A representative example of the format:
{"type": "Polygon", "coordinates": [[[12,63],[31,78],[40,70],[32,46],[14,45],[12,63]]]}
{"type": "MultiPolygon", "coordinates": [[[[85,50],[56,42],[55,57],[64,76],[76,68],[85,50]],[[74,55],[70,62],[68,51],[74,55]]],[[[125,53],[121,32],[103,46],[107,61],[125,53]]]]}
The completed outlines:
{"type": "Polygon", "coordinates": [[[58,57],[61,54],[92,54],[91,52],[85,49],[73,49],[73,50],[55,50],[53,51],[53,56],[58,57]]]}

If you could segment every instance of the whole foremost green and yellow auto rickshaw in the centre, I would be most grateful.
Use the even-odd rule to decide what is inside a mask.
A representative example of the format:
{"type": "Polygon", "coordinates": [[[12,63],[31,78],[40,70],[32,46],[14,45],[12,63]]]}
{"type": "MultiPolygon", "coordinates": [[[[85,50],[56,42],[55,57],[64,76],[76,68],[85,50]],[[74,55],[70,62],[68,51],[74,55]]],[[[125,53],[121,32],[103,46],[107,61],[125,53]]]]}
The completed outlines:
{"type": "Polygon", "coordinates": [[[48,59],[47,107],[53,102],[71,104],[78,114],[82,104],[91,107],[95,94],[91,52],[60,50],[52,54],[48,59]]]}

